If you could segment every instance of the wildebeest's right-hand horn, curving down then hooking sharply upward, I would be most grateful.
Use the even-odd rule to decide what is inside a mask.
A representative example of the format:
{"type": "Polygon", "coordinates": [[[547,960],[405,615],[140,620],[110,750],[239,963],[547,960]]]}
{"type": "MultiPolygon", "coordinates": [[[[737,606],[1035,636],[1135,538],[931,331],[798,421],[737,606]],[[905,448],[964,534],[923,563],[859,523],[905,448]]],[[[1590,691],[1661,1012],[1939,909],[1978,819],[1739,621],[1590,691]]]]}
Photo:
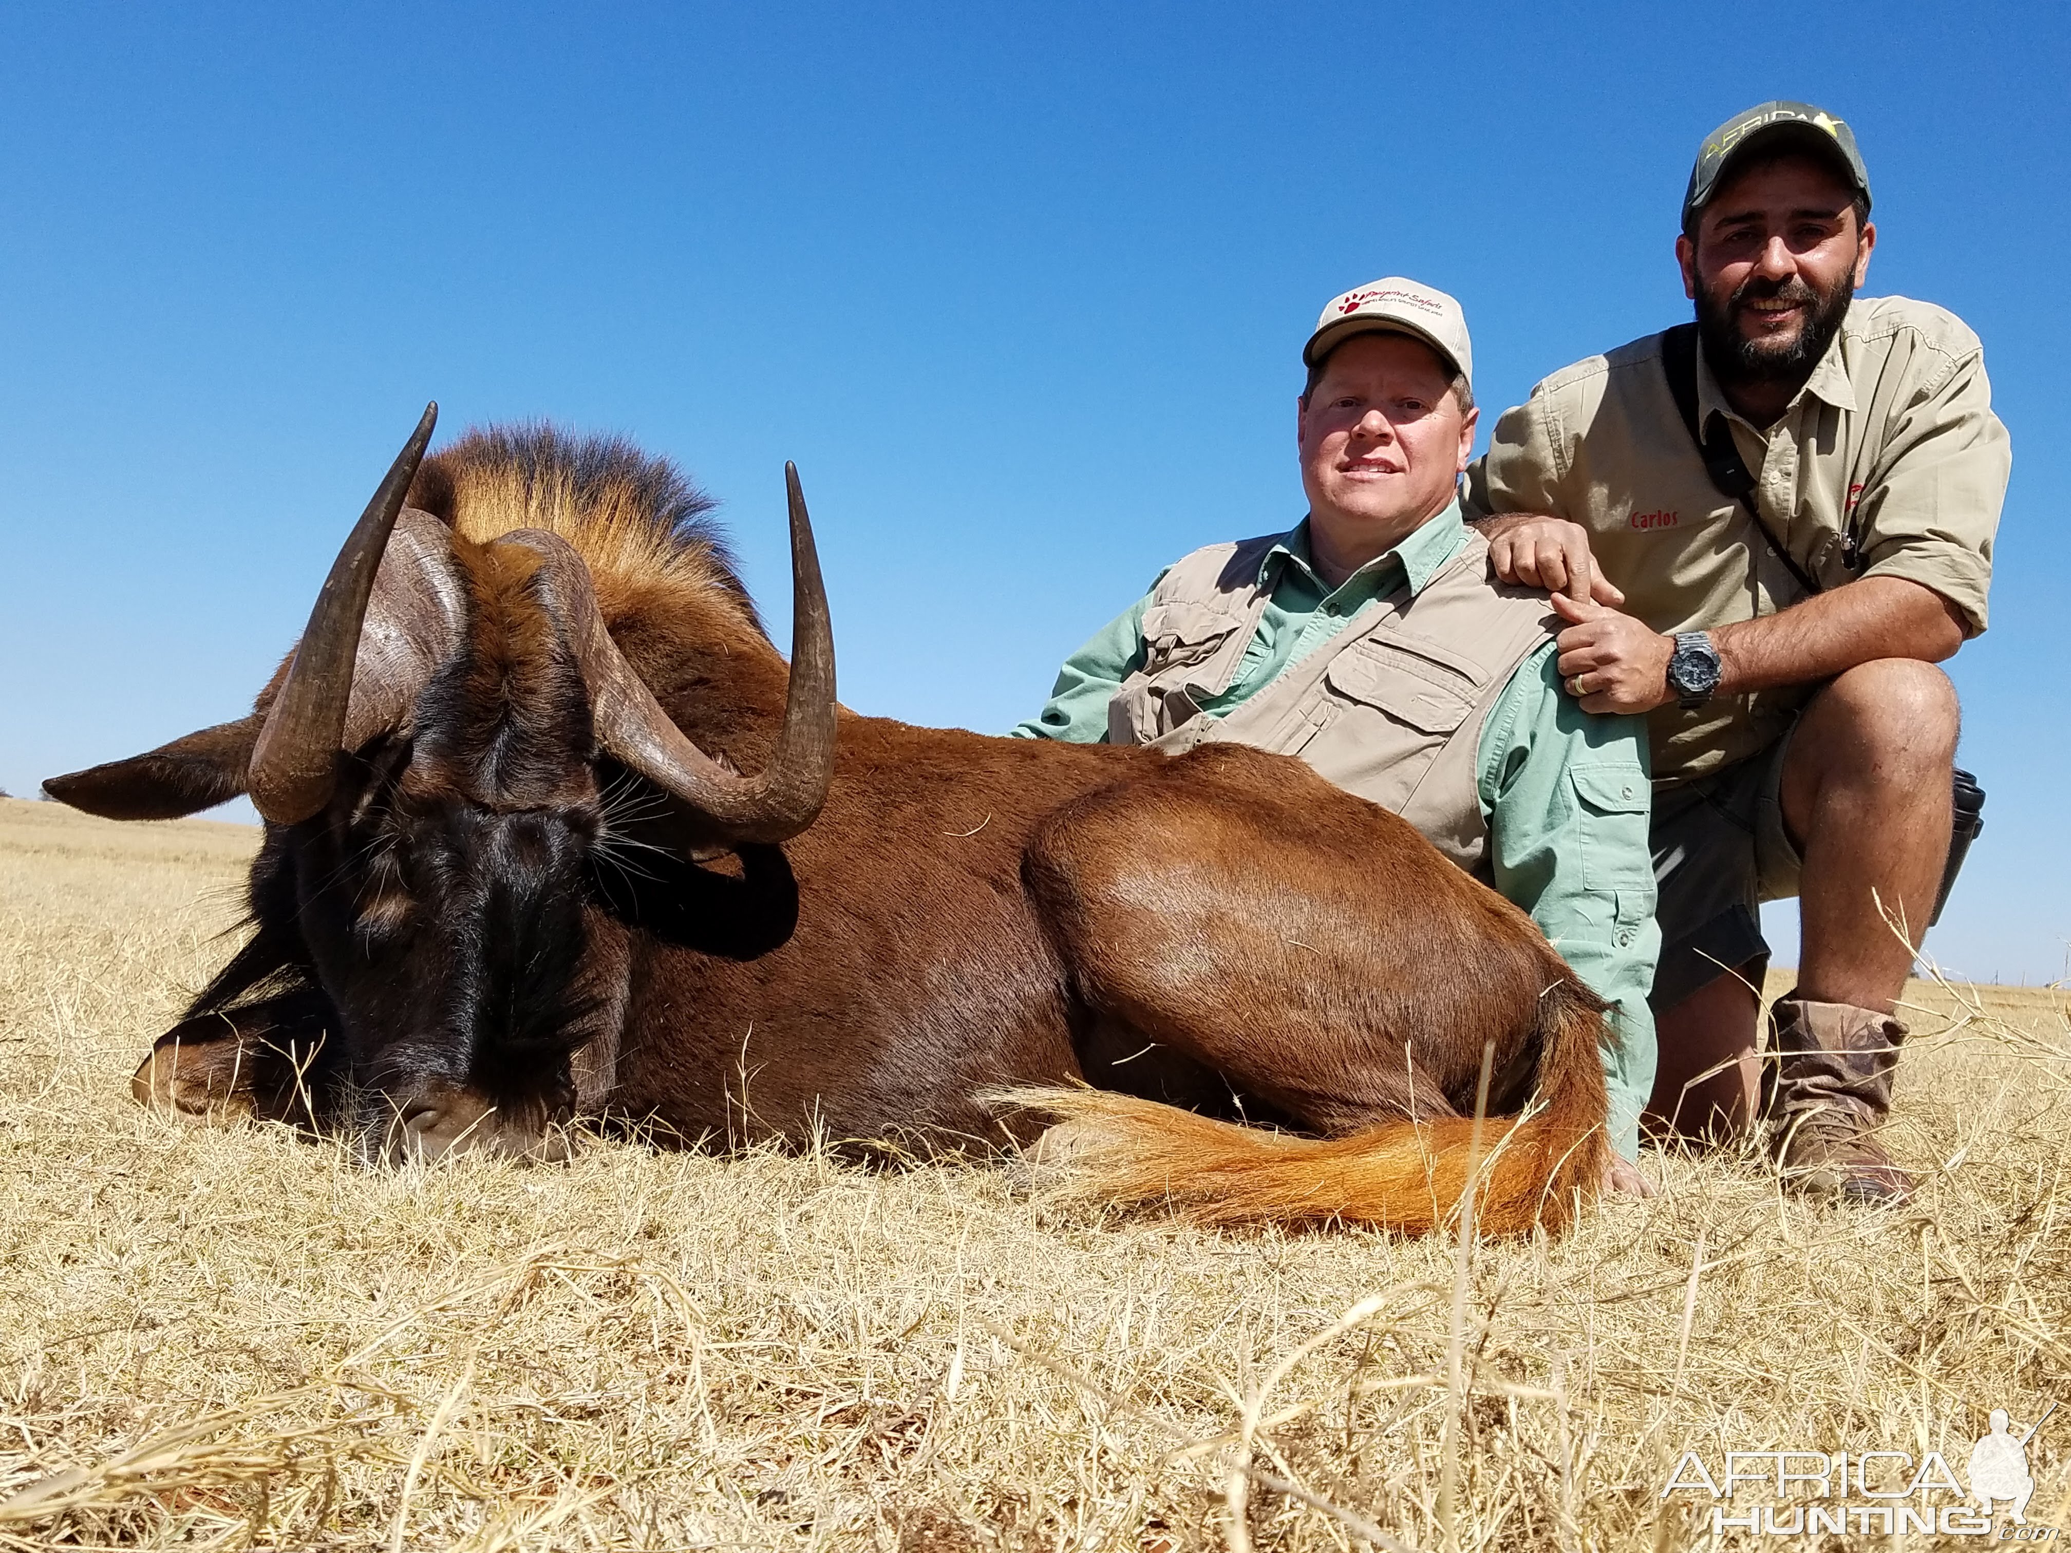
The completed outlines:
{"type": "Polygon", "coordinates": [[[567,540],[541,530],[509,543],[538,551],[541,590],[570,625],[572,646],[590,690],[596,741],[665,793],[725,832],[735,845],[775,845],[810,826],[835,774],[835,634],[826,584],[812,543],[797,466],[785,464],[791,499],[791,687],[777,752],[760,777],[741,777],[712,760],[669,719],[654,692],[605,629],[590,574],[567,540]]]}

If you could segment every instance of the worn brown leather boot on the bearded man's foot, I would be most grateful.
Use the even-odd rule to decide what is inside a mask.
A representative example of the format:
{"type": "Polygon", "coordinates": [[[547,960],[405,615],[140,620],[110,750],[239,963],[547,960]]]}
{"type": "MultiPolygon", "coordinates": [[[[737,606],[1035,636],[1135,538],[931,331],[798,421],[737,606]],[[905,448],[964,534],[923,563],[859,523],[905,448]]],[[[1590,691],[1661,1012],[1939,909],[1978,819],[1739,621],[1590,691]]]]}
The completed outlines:
{"type": "Polygon", "coordinates": [[[1762,1064],[1762,1114],[1783,1184],[1806,1197],[1897,1205],[1914,1180],[1878,1143],[1905,1025],[1845,1002],[1777,998],[1775,1062],[1762,1064]]]}

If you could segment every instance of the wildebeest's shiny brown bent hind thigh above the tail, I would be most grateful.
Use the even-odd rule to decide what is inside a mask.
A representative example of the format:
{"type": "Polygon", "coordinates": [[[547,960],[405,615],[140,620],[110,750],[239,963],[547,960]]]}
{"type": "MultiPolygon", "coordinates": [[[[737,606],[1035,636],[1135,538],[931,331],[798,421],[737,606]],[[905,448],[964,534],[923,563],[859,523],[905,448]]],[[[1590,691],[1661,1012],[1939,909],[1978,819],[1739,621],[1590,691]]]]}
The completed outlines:
{"type": "Polygon", "coordinates": [[[1296,762],[1209,745],[1091,793],[1027,878],[1100,1017],[1301,1126],[1466,1114],[1485,1042],[1491,1110],[1528,1089],[1547,973],[1522,913],[1296,762]]]}

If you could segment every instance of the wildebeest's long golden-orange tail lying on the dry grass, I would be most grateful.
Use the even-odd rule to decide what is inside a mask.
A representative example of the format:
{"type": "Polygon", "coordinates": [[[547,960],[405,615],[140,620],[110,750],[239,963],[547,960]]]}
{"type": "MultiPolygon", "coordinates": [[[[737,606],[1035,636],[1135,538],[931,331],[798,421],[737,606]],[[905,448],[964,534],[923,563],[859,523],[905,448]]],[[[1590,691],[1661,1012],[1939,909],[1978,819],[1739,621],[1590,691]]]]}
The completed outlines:
{"type": "Polygon", "coordinates": [[[1605,1004],[1572,979],[1539,1000],[1539,1071],[1522,1116],[1392,1120],[1336,1139],[1209,1120],[1100,1089],[1000,1095],[1054,1116],[1038,1168],[1073,1197],[1168,1205],[1197,1224],[1340,1220],[1406,1234],[1454,1220],[1475,1170],[1485,1234],[1566,1228],[1607,1162],[1605,1004]]]}

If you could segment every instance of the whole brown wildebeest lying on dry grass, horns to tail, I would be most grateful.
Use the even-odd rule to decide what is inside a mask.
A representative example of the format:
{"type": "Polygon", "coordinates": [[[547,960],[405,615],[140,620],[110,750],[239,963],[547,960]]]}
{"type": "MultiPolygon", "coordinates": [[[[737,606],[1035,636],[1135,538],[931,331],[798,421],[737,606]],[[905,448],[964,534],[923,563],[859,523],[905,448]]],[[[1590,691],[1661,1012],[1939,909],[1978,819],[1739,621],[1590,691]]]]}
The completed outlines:
{"type": "Polygon", "coordinates": [[[1421,1230],[1489,1048],[1483,1224],[1595,1193],[1603,1004],[1400,818],[1236,745],[837,708],[795,476],[787,669],[669,464],[530,427],[418,466],[431,418],[251,716],[48,783],[267,818],[253,936],[141,1097],[377,1158],[1062,1118],[1046,1158],[1110,1201],[1421,1230]]]}

